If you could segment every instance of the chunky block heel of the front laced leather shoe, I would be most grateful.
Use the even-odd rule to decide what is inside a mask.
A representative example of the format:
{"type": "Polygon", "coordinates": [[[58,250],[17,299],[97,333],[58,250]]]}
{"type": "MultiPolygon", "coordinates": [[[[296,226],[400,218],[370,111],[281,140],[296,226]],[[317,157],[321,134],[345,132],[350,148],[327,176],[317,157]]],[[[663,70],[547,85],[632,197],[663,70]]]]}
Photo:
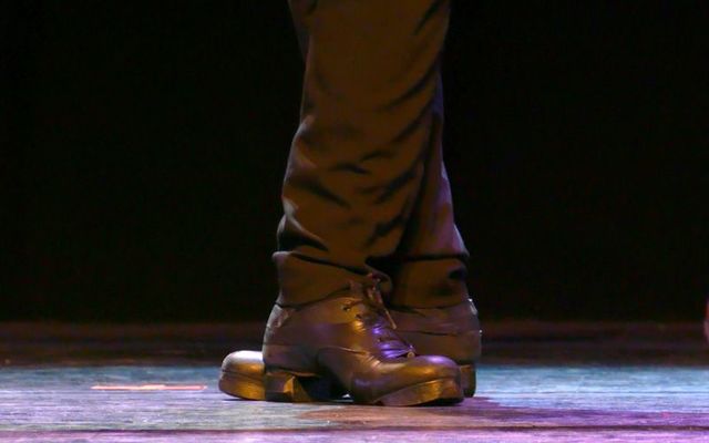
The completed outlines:
{"type": "Polygon", "coordinates": [[[316,402],[335,398],[332,381],[314,373],[267,370],[264,388],[266,400],[275,402],[316,402]]]}

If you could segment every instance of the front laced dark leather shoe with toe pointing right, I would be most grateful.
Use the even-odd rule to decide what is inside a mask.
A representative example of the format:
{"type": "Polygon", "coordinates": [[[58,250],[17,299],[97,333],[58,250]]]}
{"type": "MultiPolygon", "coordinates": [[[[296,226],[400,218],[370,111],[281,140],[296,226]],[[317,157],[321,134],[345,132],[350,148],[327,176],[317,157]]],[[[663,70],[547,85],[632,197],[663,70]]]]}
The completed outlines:
{"type": "Polygon", "coordinates": [[[414,405],[463,399],[456,364],[417,356],[393,331],[376,288],[298,307],[275,306],[264,334],[264,396],[414,405]]]}

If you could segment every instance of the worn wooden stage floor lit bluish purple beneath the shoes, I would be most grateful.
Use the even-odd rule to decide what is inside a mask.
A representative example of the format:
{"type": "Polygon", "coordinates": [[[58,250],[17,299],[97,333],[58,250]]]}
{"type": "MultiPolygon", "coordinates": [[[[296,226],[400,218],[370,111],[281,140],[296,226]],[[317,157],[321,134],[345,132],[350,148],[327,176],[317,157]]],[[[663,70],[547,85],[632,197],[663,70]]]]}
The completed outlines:
{"type": "MultiPolygon", "coordinates": [[[[143,331],[132,360],[132,340],[115,360],[92,352],[109,340],[101,332],[49,340],[38,336],[41,328],[24,334],[13,328],[0,326],[0,441],[709,442],[709,350],[691,327],[682,338],[677,331],[668,340],[635,334],[615,348],[618,336],[608,341],[607,331],[606,340],[578,331],[566,340],[518,332],[518,344],[493,334],[476,398],[428,408],[228,398],[216,389],[219,359],[212,356],[220,339],[199,328],[193,331],[203,340],[197,356],[146,356],[138,338],[155,331],[143,331]],[[83,353],[75,348],[81,342],[83,353]],[[19,351],[23,343],[34,351],[19,351]],[[610,352],[618,348],[625,359],[610,352]],[[535,358],[531,349],[542,353],[535,358]]],[[[161,340],[164,350],[179,348],[166,337],[155,343],[161,340]]]]}

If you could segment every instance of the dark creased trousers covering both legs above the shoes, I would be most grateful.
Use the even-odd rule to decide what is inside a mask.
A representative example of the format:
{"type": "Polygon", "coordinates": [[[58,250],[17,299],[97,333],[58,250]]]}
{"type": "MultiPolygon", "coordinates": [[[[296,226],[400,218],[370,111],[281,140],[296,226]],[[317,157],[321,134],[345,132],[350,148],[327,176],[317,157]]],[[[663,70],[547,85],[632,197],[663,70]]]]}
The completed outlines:
{"type": "Polygon", "coordinates": [[[442,158],[449,0],[291,0],[306,62],[278,229],[281,305],[350,282],[395,306],[467,298],[442,158]]]}

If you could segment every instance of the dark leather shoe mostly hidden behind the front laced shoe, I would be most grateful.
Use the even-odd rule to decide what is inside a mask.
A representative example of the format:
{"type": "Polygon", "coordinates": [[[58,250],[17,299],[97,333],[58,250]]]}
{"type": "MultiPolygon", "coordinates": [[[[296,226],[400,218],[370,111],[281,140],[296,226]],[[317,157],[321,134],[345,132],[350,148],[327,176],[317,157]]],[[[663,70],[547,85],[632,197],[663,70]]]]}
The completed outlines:
{"type": "MultiPolygon", "coordinates": [[[[464,394],[473,396],[476,384],[475,361],[481,353],[481,331],[472,300],[446,308],[394,308],[390,312],[395,321],[397,332],[413,343],[417,352],[444,356],[458,363],[464,394]]],[[[259,352],[233,352],[222,363],[219,389],[242,399],[264,400],[263,373],[264,364],[259,352]]],[[[320,393],[323,391],[320,390],[320,393]]],[[[329,393],[330,398],[339,394],[341,393],[329,393]]]]}

